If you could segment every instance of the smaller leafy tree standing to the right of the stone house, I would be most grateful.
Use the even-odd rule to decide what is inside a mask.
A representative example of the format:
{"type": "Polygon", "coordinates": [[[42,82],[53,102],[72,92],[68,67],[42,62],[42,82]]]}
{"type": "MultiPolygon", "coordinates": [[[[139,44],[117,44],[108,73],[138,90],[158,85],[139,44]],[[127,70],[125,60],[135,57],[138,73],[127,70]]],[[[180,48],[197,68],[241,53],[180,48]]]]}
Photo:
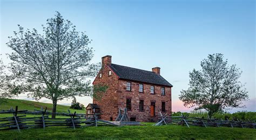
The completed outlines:
{"type": "Polygon", "coordinates": [[[205,109],[209,117],[226,107],[243,107],[241,103],[248,100],[248,94],[238,81],[241,71],[235,65],[229,66],[223,54],[218,53],[201,61],[201,68],[190,72],[190,87],[181,90],[179,99],[185,107],[205,109]]]}

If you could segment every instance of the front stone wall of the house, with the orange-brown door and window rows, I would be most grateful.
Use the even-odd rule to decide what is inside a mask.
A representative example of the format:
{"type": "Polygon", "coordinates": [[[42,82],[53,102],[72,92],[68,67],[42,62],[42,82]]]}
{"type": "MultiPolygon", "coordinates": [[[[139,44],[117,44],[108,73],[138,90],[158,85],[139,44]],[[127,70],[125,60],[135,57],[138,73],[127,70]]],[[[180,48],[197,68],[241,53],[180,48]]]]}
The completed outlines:
{"type": "Polygon", "coordinates": [[[165,102],[165,112],[161,111],[163,114],[167,113],[171,114],[172,105],[171,105],[171,87],[165,87],[165,95],[161,95],[161,87],[152,85],[155,88],[155,93],[150,93],[149,84],[143,83],[144,91],[143,93],[139,93],[139,83],[131,82],[131,91],[126,91],[126,82],[123,80],[118,80],[118,108],[126,107],[126,99],[131,99],[131,110],[127,111],[129,117],[136,117],[136,121],[156,121],[157,117],[150,117],[150,105],[151,102],[156,103],[156,116],[159,115],[159,111],[161,111],[161,102],[165,102]],[[139,100],[144,100],[144,111],[139,111],[139,100]],[[151,120],[152,119],[152,120],[151,120]]]}

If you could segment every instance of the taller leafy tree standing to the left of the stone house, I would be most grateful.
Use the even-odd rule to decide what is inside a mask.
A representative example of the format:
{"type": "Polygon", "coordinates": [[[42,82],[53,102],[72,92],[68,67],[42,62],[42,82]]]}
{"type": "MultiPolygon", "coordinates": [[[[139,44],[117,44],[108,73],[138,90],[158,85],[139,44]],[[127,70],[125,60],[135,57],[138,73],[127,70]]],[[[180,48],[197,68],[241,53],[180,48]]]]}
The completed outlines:
{"type": "Polygon", "coordinates": [[[88,78],[96,75],[100,65],[90,63],[93,50],[84,32],[78,32],[59,12],[47,19],[46,27],[42,25],[42,34],[18,27],[6,43],[14,51],[9,58],[15,93],[52,100],[53,113],[59,100],[92,94],[88,78]]]}

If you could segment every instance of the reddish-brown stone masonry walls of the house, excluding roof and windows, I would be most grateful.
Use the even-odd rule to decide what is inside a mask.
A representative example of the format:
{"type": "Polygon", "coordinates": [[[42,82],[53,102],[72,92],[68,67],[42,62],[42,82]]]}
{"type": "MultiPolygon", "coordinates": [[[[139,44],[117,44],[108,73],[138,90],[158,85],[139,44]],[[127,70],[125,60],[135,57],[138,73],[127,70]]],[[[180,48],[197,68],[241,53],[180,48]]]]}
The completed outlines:
{"type": "MultiPolygon", "coordinates": [[[[109,56],[109,55],[107,55],[109,56]]],[[[100,108],[100,118],[103,120],[115,120],[118,116],[119,108],[126,108],[126,99],[131,99],[131,110],[127,111],[129,118],[136,118],[136,121],[149,122],[157,121],[159,112],[171,114],[171,87],[165,87],[165,95],[161,95],[161,87],[143,84],[143,93],[139,93],[140,82],[119,80],[118,76],[107,65],[111,64],[111,56],[102,58],[102,68],[93,81],[93,85],[105,85],[107,90],[102,99],[93,98],[93,103],[97,103],[100,108]],[[109,71],[112,71],[109,75],[109,71]],[[102,78],[99,75],[102,74],[102,78]],[[126,90],[126,82],[131,82],[131,91],[126,90]],[[150,93],[150,87],[154,86],[154,94],[150,93]],[[139,111],[139,100],[144,100],[144,110],[139,111]],[[155,105],[155,117],[151,117],[151,102],[155,105]],[[162,102],[165,102],[165,111],[161,110],[162,102]]],[[[160,69],[160,68],[159,68],[160,69]]],[[[160,72],[159,72],[160,73],[160,72]]]]}

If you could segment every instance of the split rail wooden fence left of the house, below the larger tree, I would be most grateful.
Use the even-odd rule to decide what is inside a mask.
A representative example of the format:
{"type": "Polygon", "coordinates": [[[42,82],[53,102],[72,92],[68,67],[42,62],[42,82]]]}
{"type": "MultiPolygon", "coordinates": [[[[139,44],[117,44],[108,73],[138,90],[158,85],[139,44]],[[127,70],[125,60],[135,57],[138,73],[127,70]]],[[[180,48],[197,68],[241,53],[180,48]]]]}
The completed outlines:
{"type": "Polygon", "coordinates": [[[16,106],[15,110],[2,110],[0,114],[12,114],[12,117],[2,117],[0,118],[0,130],[8,130],[8,129],[17,129],[21,132],[21,129],[29,129],[29,128],[46,128],[46,127],[66,127],[66,128],[80,128],[80,127],[88,127],[88,126],[98,126],[98,125],[107,125],[107,126],[117,126],[117,124],[113,124],[108,121],[99,120],[97,115],[92,114],[92,117],[86,118],[81,117],[85,116],[84,114],[76,114],[71,113],[68,110],[68,114],[66,113],[49,113],[46,111],[47,108],[35,111],[28,110],[18,110],[18,106],[16,106]],[[41,115],[36,117],[26,117],[23,114],[33,114],[33,115],[41,115]],[[47,113],[47,114],[46,114],[47,113]],[[68,117],[60,117],[60,118],[50,118],[48,115],[58,114],[62,116],[68,117]]]}

